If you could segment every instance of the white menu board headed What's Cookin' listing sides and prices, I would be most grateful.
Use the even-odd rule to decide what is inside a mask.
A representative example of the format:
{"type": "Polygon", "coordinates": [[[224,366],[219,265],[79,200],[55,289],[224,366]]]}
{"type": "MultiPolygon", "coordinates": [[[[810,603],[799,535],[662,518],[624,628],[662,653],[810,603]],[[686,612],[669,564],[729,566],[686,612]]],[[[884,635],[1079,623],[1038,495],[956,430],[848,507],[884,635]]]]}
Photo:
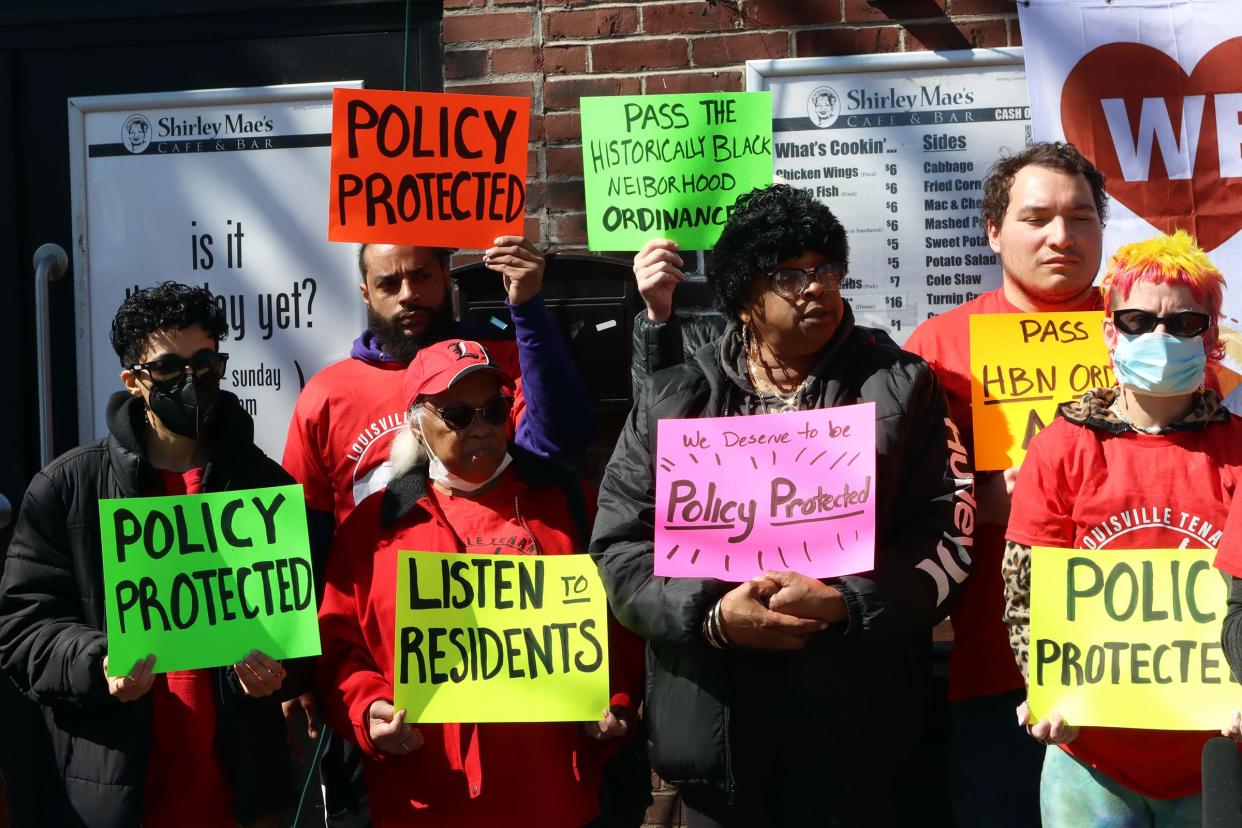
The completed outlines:
{"type": "Polygon", "coordinates": [[[1031,140],[1021,48],[749,61],[773,92],[775,180],[804,187],[850,237],[842,293],[900,344],[1001,284],[984,178],[1031,140]]]}

